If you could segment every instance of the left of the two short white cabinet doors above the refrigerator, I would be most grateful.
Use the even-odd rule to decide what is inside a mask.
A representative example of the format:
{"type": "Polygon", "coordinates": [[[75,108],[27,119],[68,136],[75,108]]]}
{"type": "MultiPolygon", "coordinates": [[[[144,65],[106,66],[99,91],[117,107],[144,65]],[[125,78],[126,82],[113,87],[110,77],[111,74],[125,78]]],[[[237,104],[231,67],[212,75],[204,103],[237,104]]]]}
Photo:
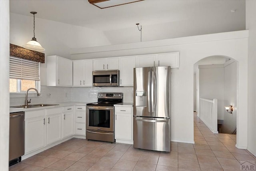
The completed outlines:
{"type": "Polygon", "coordinates": [[[140,55],[136,57],[136,67],[155,66],[156,55],[140,55]]]}

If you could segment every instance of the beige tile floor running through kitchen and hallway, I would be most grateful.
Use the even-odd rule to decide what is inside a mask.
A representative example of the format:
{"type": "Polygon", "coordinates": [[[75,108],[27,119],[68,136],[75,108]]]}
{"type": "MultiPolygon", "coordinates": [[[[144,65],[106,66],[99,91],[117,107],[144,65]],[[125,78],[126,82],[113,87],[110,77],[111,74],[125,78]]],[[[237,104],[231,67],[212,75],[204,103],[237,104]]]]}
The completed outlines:
{"type": "MultiPolygon", "coordinates": [[[[132,145],[70,139],[43,151],[10,171],[240,171],[240,163],[255,161],[235,147],[236,135],[213,134],[194,114],[195,144],[172,142],[171,152],[134,149],[132,145]]],[[[255,161],[256,163],[256,161],[255,161]]]]}

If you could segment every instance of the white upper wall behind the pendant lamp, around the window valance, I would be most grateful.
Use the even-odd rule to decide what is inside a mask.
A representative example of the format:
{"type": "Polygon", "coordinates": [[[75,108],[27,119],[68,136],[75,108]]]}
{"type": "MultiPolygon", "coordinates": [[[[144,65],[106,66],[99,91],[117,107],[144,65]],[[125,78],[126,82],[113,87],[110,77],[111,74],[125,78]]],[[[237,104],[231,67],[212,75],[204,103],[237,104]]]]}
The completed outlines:
{"type": "MultiPolygon", "coordinates": [[[[36,18],[37,41],[45,48],[45,56],[70,58],[71,48],[108,45],[102,31],[36,18]]],[[[33,37],[33,16],[10,13],[10,43],[24,46],[33,37]]],[[[46,64],[40,65],[41,85],[46,85],[46,64]]]]}

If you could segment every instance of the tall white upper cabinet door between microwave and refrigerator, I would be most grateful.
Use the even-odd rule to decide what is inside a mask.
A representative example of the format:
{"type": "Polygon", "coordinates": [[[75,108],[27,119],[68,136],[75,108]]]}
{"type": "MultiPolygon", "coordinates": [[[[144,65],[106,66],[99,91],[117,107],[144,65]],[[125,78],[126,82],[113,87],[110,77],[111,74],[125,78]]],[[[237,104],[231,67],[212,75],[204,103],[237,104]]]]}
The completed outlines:
{"type": "Polygon", "coordinates": [[[119,58],[120,86],[133,85],[133,68],[136,67],[136,57],[119,58]]]}

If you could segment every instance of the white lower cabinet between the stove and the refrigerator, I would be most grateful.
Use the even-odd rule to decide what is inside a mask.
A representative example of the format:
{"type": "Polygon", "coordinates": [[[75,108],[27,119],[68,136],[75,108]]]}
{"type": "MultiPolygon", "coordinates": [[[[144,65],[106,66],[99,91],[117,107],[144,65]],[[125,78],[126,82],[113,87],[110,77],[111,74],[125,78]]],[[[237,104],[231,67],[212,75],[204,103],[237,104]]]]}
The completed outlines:
{"type": "Polygon", "coordinates": [[[115,107],[116,142],[133,144],[132,107],[115,107]]]}

